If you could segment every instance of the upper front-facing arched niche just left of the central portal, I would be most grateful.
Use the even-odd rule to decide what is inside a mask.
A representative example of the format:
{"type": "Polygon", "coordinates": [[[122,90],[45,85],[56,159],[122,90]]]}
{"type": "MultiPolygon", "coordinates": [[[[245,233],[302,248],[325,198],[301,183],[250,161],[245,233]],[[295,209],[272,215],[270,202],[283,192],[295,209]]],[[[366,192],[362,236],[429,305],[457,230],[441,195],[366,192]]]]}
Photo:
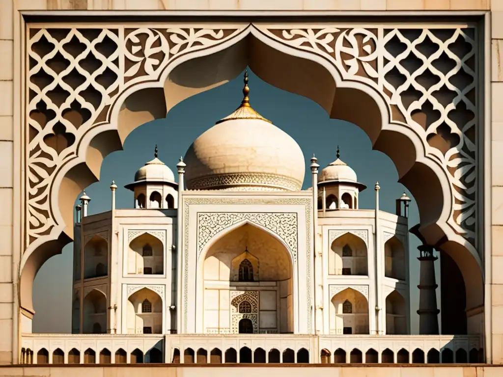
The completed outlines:
{"type": "Polygon", "coordinates": [[[129,242],[128,274],[162,275],[164,273],[164,244],[145,232],[129,242]]]}

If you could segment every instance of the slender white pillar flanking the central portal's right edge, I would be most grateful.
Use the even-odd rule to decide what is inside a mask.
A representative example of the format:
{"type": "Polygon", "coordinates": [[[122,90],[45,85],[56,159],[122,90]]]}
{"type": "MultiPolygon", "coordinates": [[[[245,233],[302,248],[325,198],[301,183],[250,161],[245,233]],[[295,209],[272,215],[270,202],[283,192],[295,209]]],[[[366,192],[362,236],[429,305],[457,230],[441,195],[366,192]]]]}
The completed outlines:
{"type": "Polygon", "coordinates": [[[323,275],[321,273],[321,253],[318,245],[318,159],[311,158],[312,194],[313,194],[313,268],[314,268],[314,333],[323,330],[323,275]]]}

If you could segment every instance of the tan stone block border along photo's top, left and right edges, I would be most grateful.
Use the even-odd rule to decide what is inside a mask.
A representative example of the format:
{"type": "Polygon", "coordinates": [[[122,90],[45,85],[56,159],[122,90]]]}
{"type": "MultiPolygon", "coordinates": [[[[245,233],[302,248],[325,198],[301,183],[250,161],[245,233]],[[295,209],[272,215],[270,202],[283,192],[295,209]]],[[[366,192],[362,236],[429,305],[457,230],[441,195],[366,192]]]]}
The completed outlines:
{"type": "MultiPolygon", "coordinates": [[[[106,2],[102,2],[100,9],[94,8],[95,2],[83,5],[85,2],[63,2],[63,4],[54,5],[52,2],[33,2],[32,0],[19,0],[13,2],[7,0],[0,4],[0,42],[2,43],[2,51],[4,52],[4,61],[2,62],[3,77],[0,80],[2,90],[0,90],[0,102],[3,104],[0,109],[0,153],[6,158],[4,165],[7,168],[7,174],[0,181],[0,199],[3,203],[13,203],[11,216],[7,213],[2,221],[0,232],[4,242],[5,252],[1,256],[1,262],[12,263],[12,275],[2,279],[0,284],[0,297],[2,298],[1,309],[2,321],[0,322],[0,331],[3,334],[12,334],[12,337],[6,337],[0,346],[0,363],[18,363],[18,353],[20,349],[19,326],[22,320],[19,309],[19,265],[21,255],[23,253],[22,239],[24,236],[24,213],[23,213],[23,192],[25,186],[25,178],[22,165],[24,164],[24,151],[26,143],[24,141],[24,104],[21,99],[25,97],[24,93],[24,65],[23,51],[25,45],[24,30],[26,26],[25,17],[30,15],[38,16],[69,16],[79,13],[75,10],[89,10],[90,14],[110,15],[106,2]],[[52,8],[52,7],[56,7],[52,8]],[[11,59],[9,59],[11,57],[11,59]],[[15,126],[16,125],[16,126],[15,126]],[[12,167],[12,170],[10,170],[12,167]],[[10,170],[10,171],[9,171],[10,170]],[[5,316],[9,313],[7,307],[12,305],[12,315],[5,316]],[[4,309],[5,308],[5,309],[4,309]]],[[[157,2],[158,7],[162,6],[162,2],[157,2]]],[[[289,5],[280,11],[269,11],[271,15],[288,16],[291,11],[295,11],[295,16],[314,16],[319,15],[319,12],[313,11],[320,7],[313,7],[316,3],[314,0],[308,2],[303,9],[295,9],[296,5],[289,5]],[[309,4],[311,6],[309,6],[309,4]]],[[[503,198],[503,182],[501,182],[501,162],[495,161],[491,163],[492,144],[495,145],[495,150],[501,153],[500,148],[503,142],[501,129],[503,129],[503,110],[498,106],[497,100],[494,100],[492,107],[492,94],[497,98],[498,94],[503,93],[503,70],[499,65],[500,58],[503,58],[503,49],[499,49],[500,43],[503,40],[503,0],[492,0],[491,2],[470,1],[467,4],[465,1],[451,1],[448,5],[432,2],[425,4],[424,2],[401,2],[396,0],[372,1],[364,4],[349,5],[349,9],[329,10],[323,12],[324,16],[368,16],[372,11],[373,16],[387,16],[388,11],[395,11],[396,16],[478,16],[481,18],[480,24],[483,24],[484,30],[483,45],[483,69],[480,69],[481,81],[484,83],[483,90],[480,90],[479,97],[482,99],[484,110],[479,112],[479,124],[484,127],[479,127],[478,136],[479,155],[483,168],[483,172],[479,171],[481,178],[479,179],[479,196],[478,203],[483,203],[481,210],[483,216],[480,217],[479,230],[482,232],[482,240],[478,246],[484,250],[484,266],[485,266],[485,304],[484,304],[484,328],[485,328],[485,354],[486,362],[501,363],[503,362],[503,327],[495,324],[492,326],[492,311],[495,311],[497,318],[503,312],[503,276],[492,279],[492,261],[495,265],[503,264],[503,253],[494,249],[492,252],[492,244],[496,240],[503,241],[503,232],[500,229],[503,225],[503,207],[497,205],[503,198]],[[444,9],[438,11],[438,9],[444,9]],[[468,11],[467,11],[468,9],[468,11]],[[462,10],[462,11],[459,11],[462,10]],[[492,11],[492,12],[491,12],[492,11]],[[485,101],[487,100],[487,101],[485,101]],[[494,123],[493,123],[494,122],[494,123]],[[494,125],[494,128],[493,128],[494,125]],[[493,132],[494,131],[494,132],[493,132]],[[485,135],[485,137],[484,137],[485,135]],[[491,135],[491,136],[489,136],[491,135]],[[483,162],[482,162],[483,161],[483,162]],[[494,182],[493,182],[494,180],[494,182]],[[492,207],[492,197],[495,198],[495,207],[492,207]],[[489,227],[489,224],[491,225],[489,227]],[[494,283],[494,285],[492,284],[494,283]],[[494,297],[494,299],[493,299],[494,297]],[[494,327],[494,328],[493,328],[494,327]]],[[[126,14],[127,10],[136,10],[135,15],[140,16],[254,16],[259,15],[256,11],[241,11],[216,9],[213,11],[205,10],[204,7],[197,7],[197,10],[174,10],[163,11],[162,9],[145,10],[149,4],[141,1],[122,2],[116,5],[113,10],[114,15],[126,14]],[[122,5],[121,5],[122,4],[122,5]],[[123,12],[124,11],[124,12],[123,12]]],[[[270,4],[269,4],[270,5],[270,4]]],[[[259,7],[267,10],[269,6],[263,4],[259,7]]],[[[113,7],[113,6],[112,6],[113,7]]],[[[250,8],[251,9],[251,8],[250,8]]],[[[322,9],[322,8],[321,8],[322,9]]],[[[129,12],[127,12],[129,13],[129,12]]],[[[81,13],[80,13],[81,15],[81,13]]],[[[482,43],[482,42],[481,42],[482,43]]],[[[496,156],[495,156],[496,157],[496,156]]],[[[500,159],[503,160],[503,159],[500,159]]],[[[480,209],[480,208],[479,208],[480,209]]]]}

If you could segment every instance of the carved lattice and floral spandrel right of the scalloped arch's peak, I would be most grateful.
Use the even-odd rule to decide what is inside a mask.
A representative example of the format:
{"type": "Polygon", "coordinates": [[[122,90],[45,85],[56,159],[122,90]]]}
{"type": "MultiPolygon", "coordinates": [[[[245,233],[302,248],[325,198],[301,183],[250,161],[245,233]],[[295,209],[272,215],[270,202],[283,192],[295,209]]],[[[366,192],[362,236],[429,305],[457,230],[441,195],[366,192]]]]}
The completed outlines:
{"type": "Polygon", "coordinates": [[[268,29],[283,44],[330,61],[343,80],[382,93],[392,121],[421,134],[451,182],[449,225],[475,243],[474,28],[268,29]]]}

